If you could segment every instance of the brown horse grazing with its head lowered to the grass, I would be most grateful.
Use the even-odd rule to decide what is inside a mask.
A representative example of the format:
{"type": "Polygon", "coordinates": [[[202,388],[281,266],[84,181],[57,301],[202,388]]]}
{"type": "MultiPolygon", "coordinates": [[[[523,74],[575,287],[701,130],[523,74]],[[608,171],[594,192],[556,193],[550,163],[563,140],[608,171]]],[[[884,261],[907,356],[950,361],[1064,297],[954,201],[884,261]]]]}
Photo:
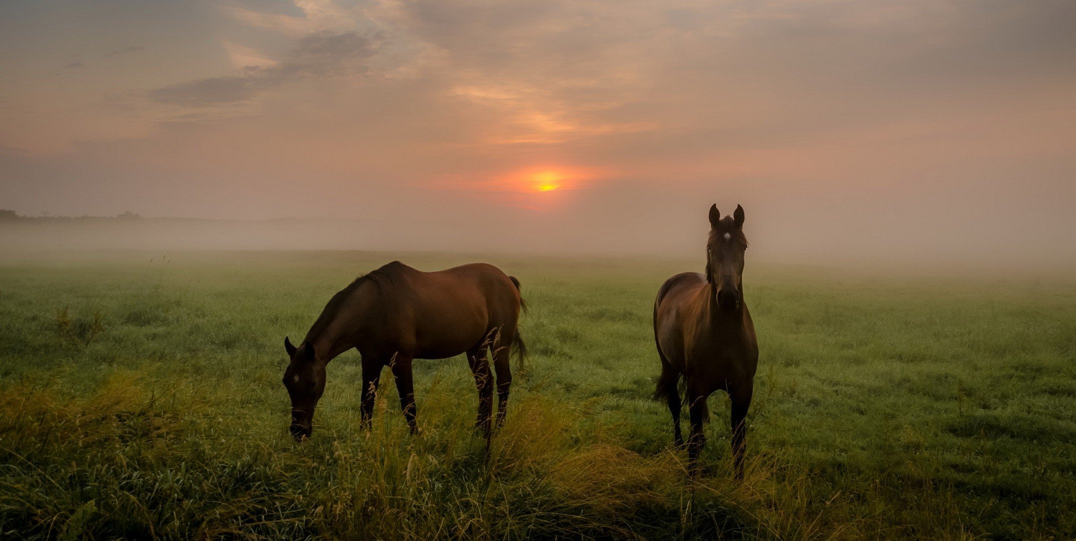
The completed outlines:
{"type": "Polygon", "coordinates": [[[442,359],[467,354],[479,391],[477,427],[489,437],[493,409],[493,374],[497,372],[497,426],[505,419],[512,384],[509,346],[522,366],[526,348],[515,329],[523,300],[520,282],[486,264],[422,272],[399,261],[359,276],[332,296],[299,346],[284,338],[292,361],[284,386],[292,397],[292,436],[308,438],[314,408],[325,390],[325,366],[354,347],[363,357],[363,426],[373,413],[381,369],[396,378],[400,408],[415,423],[412,359],[442,359]]]}

